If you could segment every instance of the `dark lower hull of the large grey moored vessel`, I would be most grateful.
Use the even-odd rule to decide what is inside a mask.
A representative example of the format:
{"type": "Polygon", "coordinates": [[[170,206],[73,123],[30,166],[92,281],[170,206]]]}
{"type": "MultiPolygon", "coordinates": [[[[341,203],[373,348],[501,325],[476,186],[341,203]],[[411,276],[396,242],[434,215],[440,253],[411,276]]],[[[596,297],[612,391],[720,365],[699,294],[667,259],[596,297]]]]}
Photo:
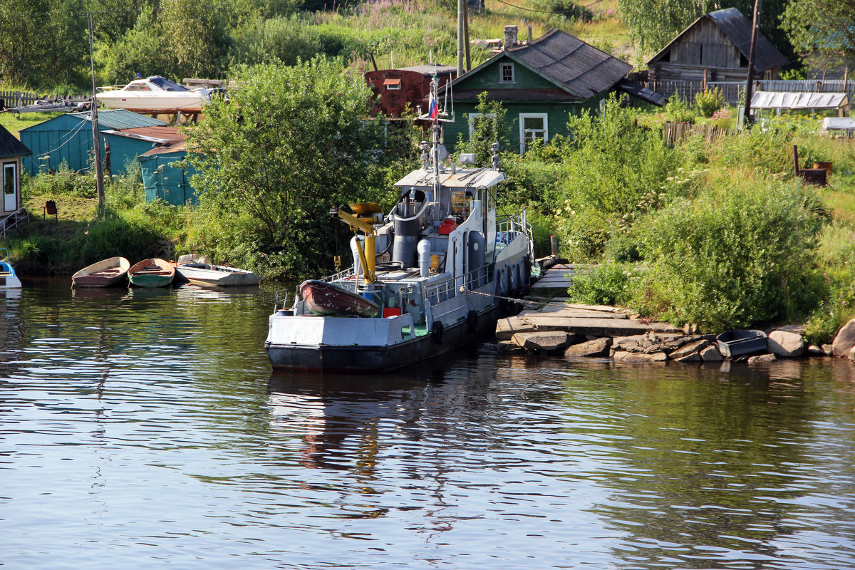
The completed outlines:
{"type": "MultiPolygon", "coordinates": [[[[376,373],[409,366],[428,360],[465,344],[473,343],[486,332],[492,332],[498,320],[498,307],[478,316],[478,325],[467,320],[444,326],[441,341],[433,334],[410,338],[397,344],[275,344],[265,343],[274,370],[305,373],[376,373]]],[[[274,317],[271,317],[274,318],[274,317]]],[[[313,319],[313,317],[292,317],[313,319]]],[[[321,318],[321,317],[317,317],[321,318]]],[[[351,319],[361,323],[367,319],[351,319]]],[[[384,319],[372,319],[381,321],[384,319]]]]}

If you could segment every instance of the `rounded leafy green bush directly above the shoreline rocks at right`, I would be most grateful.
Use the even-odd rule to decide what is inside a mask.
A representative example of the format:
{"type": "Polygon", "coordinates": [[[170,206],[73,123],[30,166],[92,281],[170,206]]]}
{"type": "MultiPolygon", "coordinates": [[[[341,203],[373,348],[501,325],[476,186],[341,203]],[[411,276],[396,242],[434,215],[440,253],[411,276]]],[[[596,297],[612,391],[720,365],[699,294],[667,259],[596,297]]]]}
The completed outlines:
{"type": "Polygon", "coordinates": [[[810,189],[774,179],[722,179],[694,202],[652,214],[640,232],[650,273],[633,303],[708,331],[793,319],[822,293],[813,253],[820,224],[810,189]]]}

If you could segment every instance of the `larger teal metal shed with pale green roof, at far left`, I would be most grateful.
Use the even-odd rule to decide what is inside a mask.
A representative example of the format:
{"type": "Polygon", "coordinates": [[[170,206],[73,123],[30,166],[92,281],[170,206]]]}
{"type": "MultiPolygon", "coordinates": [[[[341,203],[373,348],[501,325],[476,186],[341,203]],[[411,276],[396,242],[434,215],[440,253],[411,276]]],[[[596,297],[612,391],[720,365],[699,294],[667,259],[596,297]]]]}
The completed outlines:
{"type": "MultiPolygon", "coordinates": [[[[98,129],[122,131],[140,126],[166,126],[162,120],[138,115],[125,109],[98,111],[98,129]]],[[[104,138],[101,135],[102,150],[104,138]]],[[[62,162],[75,172],[91,167],[92,123],[89,113],[68,113],[45,120],[21,130],[21,142],[32,150],[23,162],[24,171],[31,176],[59,169],[62,162]]],[[[104,153],[102,152],[102,156],[104,153]]]]}

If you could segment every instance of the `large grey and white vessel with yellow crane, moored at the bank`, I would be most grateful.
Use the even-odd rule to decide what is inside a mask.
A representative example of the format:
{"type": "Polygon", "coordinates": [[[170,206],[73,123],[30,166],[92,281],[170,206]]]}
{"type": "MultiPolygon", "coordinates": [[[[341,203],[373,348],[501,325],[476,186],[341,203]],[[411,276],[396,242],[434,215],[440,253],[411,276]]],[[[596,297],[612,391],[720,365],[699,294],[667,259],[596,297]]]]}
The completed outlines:
{"type": "Polygon", "coordinates": [[[525,211],[497,212],[498,144],[491,167],[447,162],[446,116],[420,117],[433,120],[432,140],[422,142],[422,167],[396,183],[389,214],[377,204],[333,209],[361,232],[351,239],[353,265],[305,281],[292,303],[276,293],[264,343],[274,369],[382,372],[437,356],[492,331],[503,300],[528,284],[525,211]]]}

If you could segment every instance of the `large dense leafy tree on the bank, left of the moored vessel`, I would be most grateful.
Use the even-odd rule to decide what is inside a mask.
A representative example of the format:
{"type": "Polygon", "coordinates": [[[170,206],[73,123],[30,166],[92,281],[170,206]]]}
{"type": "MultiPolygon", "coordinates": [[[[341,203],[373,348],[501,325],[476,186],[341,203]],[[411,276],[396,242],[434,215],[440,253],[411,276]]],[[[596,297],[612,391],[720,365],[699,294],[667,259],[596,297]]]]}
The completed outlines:
{"type": "Polygon", "coordinates": [[[330,207],[364,197],[383,158],[371,107],[372,91],[340,60],[241,73],[188,132],[202,249],[289,277],[327,261],[330,207]]]}

